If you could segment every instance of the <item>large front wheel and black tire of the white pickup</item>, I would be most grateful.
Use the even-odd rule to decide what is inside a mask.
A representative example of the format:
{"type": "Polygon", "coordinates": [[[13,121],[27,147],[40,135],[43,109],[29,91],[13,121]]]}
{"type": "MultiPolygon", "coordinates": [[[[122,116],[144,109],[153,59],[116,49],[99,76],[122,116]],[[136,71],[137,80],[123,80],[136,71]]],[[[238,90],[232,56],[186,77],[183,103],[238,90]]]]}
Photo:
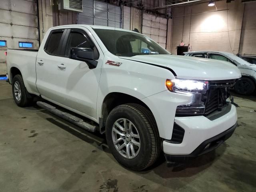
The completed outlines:
{"type": "Polygon", "coordinates": [[[110,112],[106,121],[106,140],[114,158],[123,166],[135,171],[144,170],[154,164],[161,150],[160,137],[154,116],[147,108],[139,104],[123,104],[117,106],[110,112]],[[128,153],[130,153],[131,156],[133,155],[133,157],[129,158],[127,157],[127,146],[123,148],[123,154],[121,154],[114,144],[116,138],[113,139],[113,137],[118,135],[113,131],[114,127],[116,127],[115,122],[119,121],[121,125],[123,121],[124,127],[124,119],[126,119],[127,128],[131,127],[132,131],[130,130],[130,132],[126,133],[128,135],[130,134],[131,137],[125,137],[125,139],[123,137],[116,145],[121,146],[125,143],[126,139],[131,139],[129,141],[126,140],[126,142],[128,142],[127,146],[130,144],[128,153]],[[130,123],[132,123],[131,126],[129,126],[130,123]],[[140,138],[133,137],[136,135],[137,137],[139,135],[140,138]],[[140,142],[140,147],[138,147],[138,142],[140,142]],[[134,153],[132,153],[132,148],[134,152],[136,152],[135,156],[134,153]]]}

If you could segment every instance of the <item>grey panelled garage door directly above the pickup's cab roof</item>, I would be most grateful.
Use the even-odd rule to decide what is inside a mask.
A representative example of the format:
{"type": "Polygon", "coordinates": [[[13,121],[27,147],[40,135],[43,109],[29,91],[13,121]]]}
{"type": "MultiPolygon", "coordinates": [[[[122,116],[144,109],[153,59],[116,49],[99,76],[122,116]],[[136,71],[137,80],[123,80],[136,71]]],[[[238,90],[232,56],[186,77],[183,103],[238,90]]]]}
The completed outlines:
{"type": "Polygon", "coordinates": [[[78,14],[78,24],[121,28],[121,7],[94,0],[84,0],[83,12],[78,14]]]}

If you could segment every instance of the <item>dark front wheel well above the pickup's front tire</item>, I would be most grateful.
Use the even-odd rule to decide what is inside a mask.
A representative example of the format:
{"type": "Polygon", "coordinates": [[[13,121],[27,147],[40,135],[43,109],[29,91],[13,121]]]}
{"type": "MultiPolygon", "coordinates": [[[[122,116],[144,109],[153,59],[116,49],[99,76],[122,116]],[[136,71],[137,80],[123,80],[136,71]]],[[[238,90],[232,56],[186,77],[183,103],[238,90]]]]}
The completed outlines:
{"type": "Polygon", "coordinates": [[[122,104],[126,104],[126,103],[136,103],[136,104],[140,104],[141,106],[146,107],[150,112],[150,108],[148,108],[148,106],[142,102],[140,99],[128,95],[128,94],[124,94],[124,93],[120,93],[120,92],[112,92],[109,93],[103,100],[103,104],[102,104],[102,118],[100,118],[100,132],[104,133],[105,132],[105,125],[106,125],[106,120],[108,118],[108,114],[116,107],[122,104]]]}

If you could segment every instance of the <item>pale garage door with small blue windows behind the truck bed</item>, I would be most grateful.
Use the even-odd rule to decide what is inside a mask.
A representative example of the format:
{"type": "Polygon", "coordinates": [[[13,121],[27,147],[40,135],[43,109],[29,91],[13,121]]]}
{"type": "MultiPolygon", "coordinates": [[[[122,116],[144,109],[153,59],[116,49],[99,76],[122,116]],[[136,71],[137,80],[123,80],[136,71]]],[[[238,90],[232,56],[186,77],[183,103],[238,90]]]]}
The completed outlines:
{"type": "Polygon", "coordinates": [[[6,74],[4,52],[7,48],[18,49],[29,46],[30,49],[38,49],[36,7],[34,0],[0,1],[0,75],[6,74]]]}

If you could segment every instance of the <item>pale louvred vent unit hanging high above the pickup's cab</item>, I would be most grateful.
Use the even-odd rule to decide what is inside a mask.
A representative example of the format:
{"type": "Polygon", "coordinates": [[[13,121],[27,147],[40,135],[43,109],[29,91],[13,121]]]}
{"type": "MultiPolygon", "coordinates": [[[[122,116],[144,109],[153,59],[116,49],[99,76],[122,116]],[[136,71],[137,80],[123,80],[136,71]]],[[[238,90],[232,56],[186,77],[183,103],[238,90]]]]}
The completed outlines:
{"type": "Polygon", "coordinates": [[[60,0],[59,10],[83,12],[83,0],[60,0]]]}

